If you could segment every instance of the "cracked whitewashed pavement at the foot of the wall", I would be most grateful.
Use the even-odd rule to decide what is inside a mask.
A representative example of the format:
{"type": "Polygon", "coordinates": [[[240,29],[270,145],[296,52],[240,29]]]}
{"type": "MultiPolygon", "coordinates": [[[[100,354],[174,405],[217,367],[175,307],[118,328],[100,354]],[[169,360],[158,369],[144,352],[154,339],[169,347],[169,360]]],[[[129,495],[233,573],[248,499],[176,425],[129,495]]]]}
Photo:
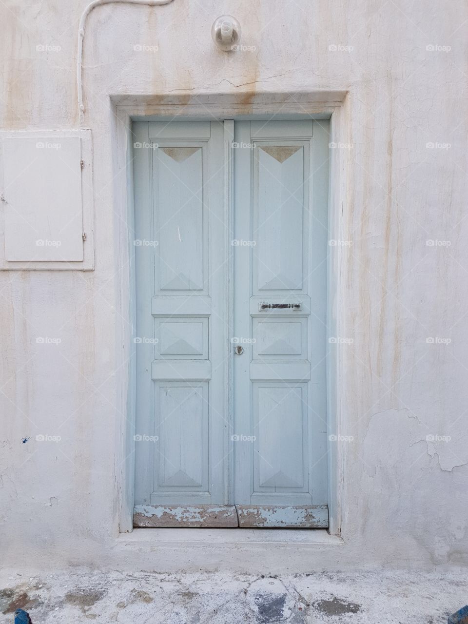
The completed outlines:
{"type": "Polygon", "coordinates": [[[25,608],[33,624],[437,624],[466,603],[466,573],[381,570],[260,577],[74,569],[2,571],[0,622],[25,608]]]}

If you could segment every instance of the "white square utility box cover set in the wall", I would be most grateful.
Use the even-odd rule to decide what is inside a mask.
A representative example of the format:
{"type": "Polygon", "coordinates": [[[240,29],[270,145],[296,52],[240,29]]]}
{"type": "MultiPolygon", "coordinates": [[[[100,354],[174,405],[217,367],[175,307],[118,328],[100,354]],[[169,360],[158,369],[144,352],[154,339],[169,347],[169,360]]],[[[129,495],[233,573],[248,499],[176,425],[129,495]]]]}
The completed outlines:
{"type": "Polygon", "coordinates": [[[89,130],[2,135],[0,268],[93,268],[90,152],[89,130]]]}

